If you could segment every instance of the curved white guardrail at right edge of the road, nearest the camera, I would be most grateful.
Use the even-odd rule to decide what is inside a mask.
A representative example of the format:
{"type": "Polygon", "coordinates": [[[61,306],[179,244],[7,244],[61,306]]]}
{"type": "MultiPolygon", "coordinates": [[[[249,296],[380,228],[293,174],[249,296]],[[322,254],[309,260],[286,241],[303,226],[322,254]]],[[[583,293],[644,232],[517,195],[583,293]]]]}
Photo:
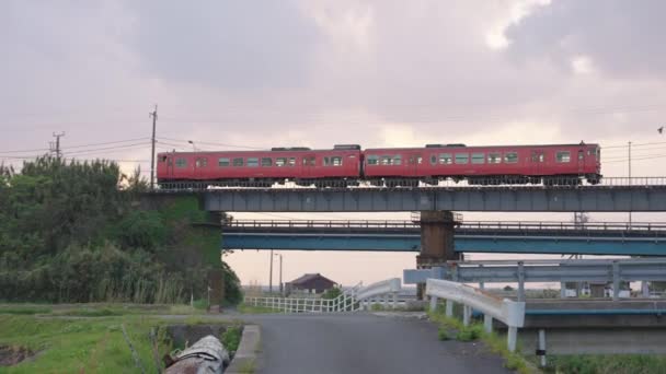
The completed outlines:
{"type": "Polygon", "coordinates": [[[426,280],[425,292],[430,296],[430,309],[437,307],[438,299],[447,301],[446,315],[449,317],[453,315],[453,302],[462,304],[464,326],[470,324],[472,309],[483,313],[486,332],[493,329],[493,318],[504,323],[508,326],[508,349],[512,352],[516,350],[518,328],[525,325],[525,302],[501,300],[472,287],[440,279],[426,280]]]}

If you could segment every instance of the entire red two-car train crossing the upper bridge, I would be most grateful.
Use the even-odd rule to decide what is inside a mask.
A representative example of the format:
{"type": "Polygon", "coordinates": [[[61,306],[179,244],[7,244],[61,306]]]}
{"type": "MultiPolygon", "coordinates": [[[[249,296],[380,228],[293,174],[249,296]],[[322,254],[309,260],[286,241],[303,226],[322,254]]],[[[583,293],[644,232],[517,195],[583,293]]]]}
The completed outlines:
{"type": "Polygon", "coordinates": [[[217,186],[260,186],[291,180],[300,186],[407,187],[450,178],[472,185],[597,184],[598,144],[496,145],[427,144],[425,148],[331,150],[274,148],[267,151],[170,152],[158,154],[159,184],[215,182],[217,186]]]}

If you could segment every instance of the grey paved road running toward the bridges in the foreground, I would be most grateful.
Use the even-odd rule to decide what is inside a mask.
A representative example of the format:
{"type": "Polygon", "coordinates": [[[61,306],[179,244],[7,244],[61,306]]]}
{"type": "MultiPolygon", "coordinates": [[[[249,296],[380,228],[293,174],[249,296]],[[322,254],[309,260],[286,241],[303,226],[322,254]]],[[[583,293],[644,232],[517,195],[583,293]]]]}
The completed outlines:
{"type": "Polygon", "coordinates": [[[427,320],[370,314],[255,315],[261,374],[510,373],[480,343],[439,341],[427,320]]]}

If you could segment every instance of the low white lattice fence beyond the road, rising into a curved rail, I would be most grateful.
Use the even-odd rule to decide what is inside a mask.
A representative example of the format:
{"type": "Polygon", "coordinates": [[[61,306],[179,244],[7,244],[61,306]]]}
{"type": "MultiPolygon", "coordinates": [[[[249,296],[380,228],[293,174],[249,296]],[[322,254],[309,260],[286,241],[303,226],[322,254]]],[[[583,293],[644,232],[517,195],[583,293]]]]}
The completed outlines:
{"type": "Polygon", "coordinates": [[[262,306],[283,313],[336,313],[367,309],[369,305],[380,302],[395,307],[398,293],[401,290],[400,278],[387,279],[368,287],[357,285],[344,290],[335,299],[314,297],[251,297],[245,296],[246,305],[262,306]]]}

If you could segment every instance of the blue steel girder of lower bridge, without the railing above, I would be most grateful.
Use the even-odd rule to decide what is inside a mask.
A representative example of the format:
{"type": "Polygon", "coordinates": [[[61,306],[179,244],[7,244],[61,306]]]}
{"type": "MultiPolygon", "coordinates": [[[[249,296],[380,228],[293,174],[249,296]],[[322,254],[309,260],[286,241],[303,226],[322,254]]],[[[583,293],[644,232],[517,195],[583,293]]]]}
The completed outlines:
{"type": "MultiPolygon", "coordinates": [[[[420,252],[418,234],[225,233],[222,249],[420,252]]],[[[666,238],[461,235],[456,252],[666,256],[666,238]]]]}

